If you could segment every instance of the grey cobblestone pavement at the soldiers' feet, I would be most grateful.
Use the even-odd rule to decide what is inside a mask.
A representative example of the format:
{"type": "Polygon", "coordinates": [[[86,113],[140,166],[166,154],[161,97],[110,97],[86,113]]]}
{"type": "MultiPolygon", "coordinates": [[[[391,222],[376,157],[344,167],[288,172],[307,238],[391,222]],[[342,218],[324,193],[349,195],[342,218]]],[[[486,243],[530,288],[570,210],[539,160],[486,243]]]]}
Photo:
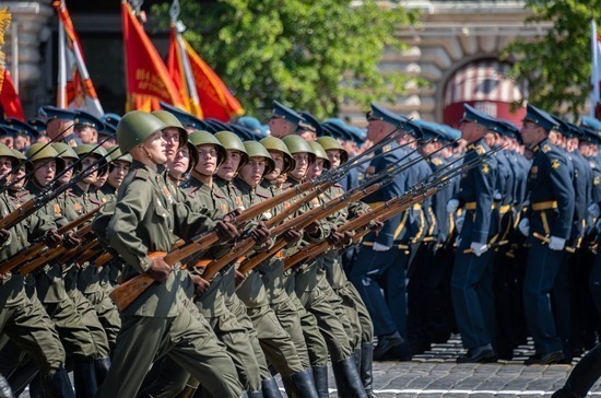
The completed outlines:
{"type": "MultiPolygon", "coordinates": [[[[573,367],[525,366],[523,360],[533,353],[531,342],[517,349],[512,361],[494,364],[457,364],[456,358],[463,352],[459,336],[453,336],[411,362],[374,362],[374,388],[380,398],[549,398],[573,367]]],[[[330,397],[337,397],[331,370],[329,376],[330,397]]],[[[590,395],[601,397],[601,384],[590,395]]]]}

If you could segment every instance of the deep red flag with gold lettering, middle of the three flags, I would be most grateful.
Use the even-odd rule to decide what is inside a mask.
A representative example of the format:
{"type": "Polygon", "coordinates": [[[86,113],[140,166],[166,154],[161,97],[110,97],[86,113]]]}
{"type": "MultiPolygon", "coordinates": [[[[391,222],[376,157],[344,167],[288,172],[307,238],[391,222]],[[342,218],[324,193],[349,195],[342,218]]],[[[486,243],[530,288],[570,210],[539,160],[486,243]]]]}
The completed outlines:
{"type": "Polygon", "coordinates": [[[163,59],[127,1],[121,2],[128,110],[160,109],[158,102],[186,108],[163,59]],[[143,96],[140,98],[139,96],[143,96]]]}

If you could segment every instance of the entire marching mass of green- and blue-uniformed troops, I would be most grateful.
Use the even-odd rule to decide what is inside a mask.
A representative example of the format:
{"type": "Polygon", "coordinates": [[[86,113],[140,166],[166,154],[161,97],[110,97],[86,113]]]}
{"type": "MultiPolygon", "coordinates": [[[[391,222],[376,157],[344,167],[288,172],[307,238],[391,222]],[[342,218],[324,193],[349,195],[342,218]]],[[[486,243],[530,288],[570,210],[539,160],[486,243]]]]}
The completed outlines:
{"type": "Polygon", "coordinates": [[[0,397],[328,397],[329,362],[375,397],[457,331],[460,363],[598,341],[599,120],[163,106],[0,124],[0,397]]]}

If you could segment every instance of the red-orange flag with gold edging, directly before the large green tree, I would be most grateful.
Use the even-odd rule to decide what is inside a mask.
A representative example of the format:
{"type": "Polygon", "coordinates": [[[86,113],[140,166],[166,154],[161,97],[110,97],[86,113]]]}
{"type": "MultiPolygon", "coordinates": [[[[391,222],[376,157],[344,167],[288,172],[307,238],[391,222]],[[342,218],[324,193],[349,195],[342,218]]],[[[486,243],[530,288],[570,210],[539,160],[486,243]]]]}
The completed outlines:
{"type": "MultiPolygon", "coordinates": [[[[223,83],[220,77],[202,60],[202,58],[200,58],[184,36],[178,33],[176,34],[179,36],[178,39],[180,39],[185,56],[189,61],[191,79],[195,81],[202,116],[229,121],[232,117],[243,115],[244,109],[240,103],[232,95],[229,90],[227,90],[225,83],[223,83]]],[[[174,55],[176,55],[175,51],[178,50],[178,48],[177,46],[174,47],[174,55]]],[[[169,55],[170,54],[169,51],[169,55]]],[[[174,62],[174,65],[176,65],[175,62],[177,62],[177,60],[170,58],[168,62],[174,62]]],[[[179,72],[179,77],[186,78],[181,72],[179,72]]]]}

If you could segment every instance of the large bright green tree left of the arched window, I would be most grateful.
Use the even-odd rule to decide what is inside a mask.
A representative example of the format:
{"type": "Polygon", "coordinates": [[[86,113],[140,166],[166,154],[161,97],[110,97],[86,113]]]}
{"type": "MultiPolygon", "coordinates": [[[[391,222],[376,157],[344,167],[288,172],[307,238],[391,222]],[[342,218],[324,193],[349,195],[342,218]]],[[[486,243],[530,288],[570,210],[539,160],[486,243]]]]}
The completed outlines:
{"type": "MultiPolygon", "coordinates": [[[[153,14],[168,19],[169,4],[153,14]]],[[[272,99],[318,117],[343,101],[394,101],[411,78],[379,70],[387,46],[417,13],[376,0],[181,0],[185,37],[222,77],[248,114],[264,117],[272,99]]]]}

